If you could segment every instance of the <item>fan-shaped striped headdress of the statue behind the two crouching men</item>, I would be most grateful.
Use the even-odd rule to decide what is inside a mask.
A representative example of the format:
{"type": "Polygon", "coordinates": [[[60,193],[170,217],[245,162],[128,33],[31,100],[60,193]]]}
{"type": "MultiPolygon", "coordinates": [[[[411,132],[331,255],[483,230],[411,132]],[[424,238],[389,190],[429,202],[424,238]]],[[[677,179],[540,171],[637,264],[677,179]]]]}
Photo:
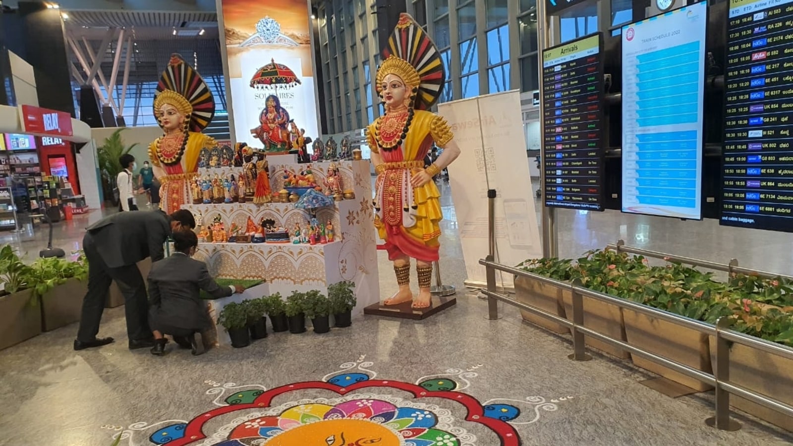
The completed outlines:
{"type": "MultiPolygon", "coordinates": [[[[204,79],[186,63],[182,56],[170,55],[168,67],[157,83],[154,115],[159,118],[159,108],[170,104],[189,117],[190,131],[201,132],[215,115],[215,98],[204,79]]],[[[158,119],[159,121],[159,119],[158,119]]]]}

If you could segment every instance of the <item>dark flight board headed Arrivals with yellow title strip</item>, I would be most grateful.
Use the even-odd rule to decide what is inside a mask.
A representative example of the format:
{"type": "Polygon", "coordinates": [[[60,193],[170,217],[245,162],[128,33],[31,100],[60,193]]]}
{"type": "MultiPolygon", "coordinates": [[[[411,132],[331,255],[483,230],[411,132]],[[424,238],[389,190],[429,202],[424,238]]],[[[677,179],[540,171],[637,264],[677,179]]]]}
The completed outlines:
{"type": "Polygon", "coordinates": [[[542,52],[545,206],[603,210],[603,39],[542,52]]]}

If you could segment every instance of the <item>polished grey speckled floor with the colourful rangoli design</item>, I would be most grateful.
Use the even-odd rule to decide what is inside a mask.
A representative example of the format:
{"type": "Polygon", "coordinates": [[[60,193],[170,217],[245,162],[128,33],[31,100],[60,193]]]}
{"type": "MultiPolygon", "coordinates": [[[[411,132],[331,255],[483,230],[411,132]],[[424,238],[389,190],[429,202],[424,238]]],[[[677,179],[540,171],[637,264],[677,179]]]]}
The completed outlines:
{"type": "MultiPolygon", "coordinates": [[[[453,217],[448,198],[445,204],[446,215],[453,217]]],[[[67,252],[79,248],[82,228],[99,217],[94,212],[56,225],[54,244],[67,252]]],[[[557,225],[562,256],[623,238],[642,248],[706,260],[738,257],[742,265],[780,272],[787,272],[793,241],[788,234],[720,228],[714,221],[614,212],[559,211],[557,225]]],[[[504,443],[515,438],[509,433],[523,445],[543,446],[793,442],[791,433],[740,415],[743,428],[737,432],[708,428],[704,420],[712,415],[712,394],[668,398],[640,384],[651,376],[630,363],[600,355],[573,362],[567,359],[569,338],[523,323],[510,307],[501,308],[502,319],[486,320],[485,302],[463,289],[465,267],[455,227],[454,221],[446,221],[441,267],[444,281],[458,287],[458,305],[425,321],[361,316],[351,328],[327,335],[271,333],[247,348],[217,348],[201,357],[176,350],[159,358],[128,351],[123,309],[117,308],[106,311],[101,330],[102,336],[116,337],[115,344],[74,352],[72,325],[8,348],[0,352],[0,444],[106,446],[119,433],[122,445],[163,444],[163,438],[188,444],[190,436],[208,437],[190,444],[260,444],[221,443],[220,437],[264,429],[267,420],[311,421],[316,402],[327,411],[331,406],[371,407],[373,401],[381,408],[412,411],[411,435],[419,435],[421,423],[436,417],[437,430],[457,436],[459,444],[510,444],[504,443]],[[344,379],[360,382],[328,386],[344,379]],[[308,384],[294,384],[301,382],[308,384]],[[414,398],[409,390],[416,385],[450,391],[414,398]],[[251,396],[257,392],[271,401],[252,407],[262,402],[251,396]],[[454,398],[459,401],[450,401],[454,398]],[[239,411],[228,410],[235,401],[239,406],[232,409],[239,411]],[[487,425],[482,422],[488,416],[485,410],[482,417],[466,420],[472,407],[485,406],[501,408],[511,419],[487,425]],[[517,416],[513,409],[519,410],[517,416]],[[289,410],[298,416],[289,418],[289,410]]],[[[46,245],[46,231],[37,227],[34,234],[0,233],[0,244],[5,243],[35,258],[46,245]]],[[[386,294],[396,281],[383,252],[380,271],[386,294]]],[[[366,415],[366,422],[377,421],[373,413],[366,415]]],[[[274,444],[312,446],[306,439],[320,435],[320,428],[300,431],[305,432],[302,440],[289,443],[283,436],[282,443],[274,444]]],[[[354,431],[356,426],[348,428],[354,431]]],[[[406,444],[386,441],[393,433],[388,429],[376,444],[406,444]]],[[[437,438],[446,441],[442,434],[437,438]]],[[[322,440],[318,444],[331,444],[324,436],[322,440]]]]}

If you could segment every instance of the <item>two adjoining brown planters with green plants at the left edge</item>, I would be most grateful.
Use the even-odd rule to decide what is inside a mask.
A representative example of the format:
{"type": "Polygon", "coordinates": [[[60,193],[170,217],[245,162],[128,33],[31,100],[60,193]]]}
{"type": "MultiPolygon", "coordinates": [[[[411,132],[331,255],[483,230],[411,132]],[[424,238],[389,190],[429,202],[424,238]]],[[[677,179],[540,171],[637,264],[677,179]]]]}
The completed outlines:
{"type": "Polygon", "coordinates": [[[82,255],[26,264],[10,245],[0,248],[0,350],[79,321],[87,275],[82,255]]]}

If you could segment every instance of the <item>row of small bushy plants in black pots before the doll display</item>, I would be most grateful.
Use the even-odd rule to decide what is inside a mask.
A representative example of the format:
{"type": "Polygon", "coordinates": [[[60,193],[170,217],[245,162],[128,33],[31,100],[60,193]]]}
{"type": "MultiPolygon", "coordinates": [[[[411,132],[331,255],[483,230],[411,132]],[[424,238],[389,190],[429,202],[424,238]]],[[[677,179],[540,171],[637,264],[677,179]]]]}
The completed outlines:
{"type": "Polygon", "coordinates": [[[304,333],[306,317],[311,319],[314,333],[331,330],[330,316],[336,327],[352,325],[352,309],[357,302],[353,291],[354,283],[339,282],[328,286],[328,297],[319,290],[302,293],[294,291],[286,300],[281,294],[232,302],[220,310],[217,323],[223,325],[231,337],[232,347],[242,348],[251,344],[251,339],[267,336],[266,317],[274,332],[304,333]]]}

